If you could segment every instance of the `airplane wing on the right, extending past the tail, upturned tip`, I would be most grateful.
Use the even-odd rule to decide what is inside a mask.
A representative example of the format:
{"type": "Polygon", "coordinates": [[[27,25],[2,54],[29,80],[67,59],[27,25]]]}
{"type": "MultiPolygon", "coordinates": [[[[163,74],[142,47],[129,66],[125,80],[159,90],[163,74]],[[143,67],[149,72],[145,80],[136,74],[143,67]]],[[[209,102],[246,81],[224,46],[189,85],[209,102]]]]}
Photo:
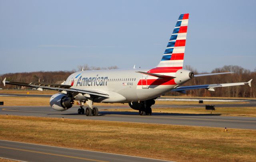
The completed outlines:
{"type": "Polygon", "coordinates": [[[223,84],[205,84],[205,85],[196,85],[196,86],[178,86],[171,91],[176,91],[180,93],[186,93],[186,90],[195,90],[205,88],[206,90],[214,91],[216,87],[228,87],[228,86],[240,86],[248,84],[251,86],[252,79],[248,82],[240,82],[240,83],[223,83],[223,84]]]}

